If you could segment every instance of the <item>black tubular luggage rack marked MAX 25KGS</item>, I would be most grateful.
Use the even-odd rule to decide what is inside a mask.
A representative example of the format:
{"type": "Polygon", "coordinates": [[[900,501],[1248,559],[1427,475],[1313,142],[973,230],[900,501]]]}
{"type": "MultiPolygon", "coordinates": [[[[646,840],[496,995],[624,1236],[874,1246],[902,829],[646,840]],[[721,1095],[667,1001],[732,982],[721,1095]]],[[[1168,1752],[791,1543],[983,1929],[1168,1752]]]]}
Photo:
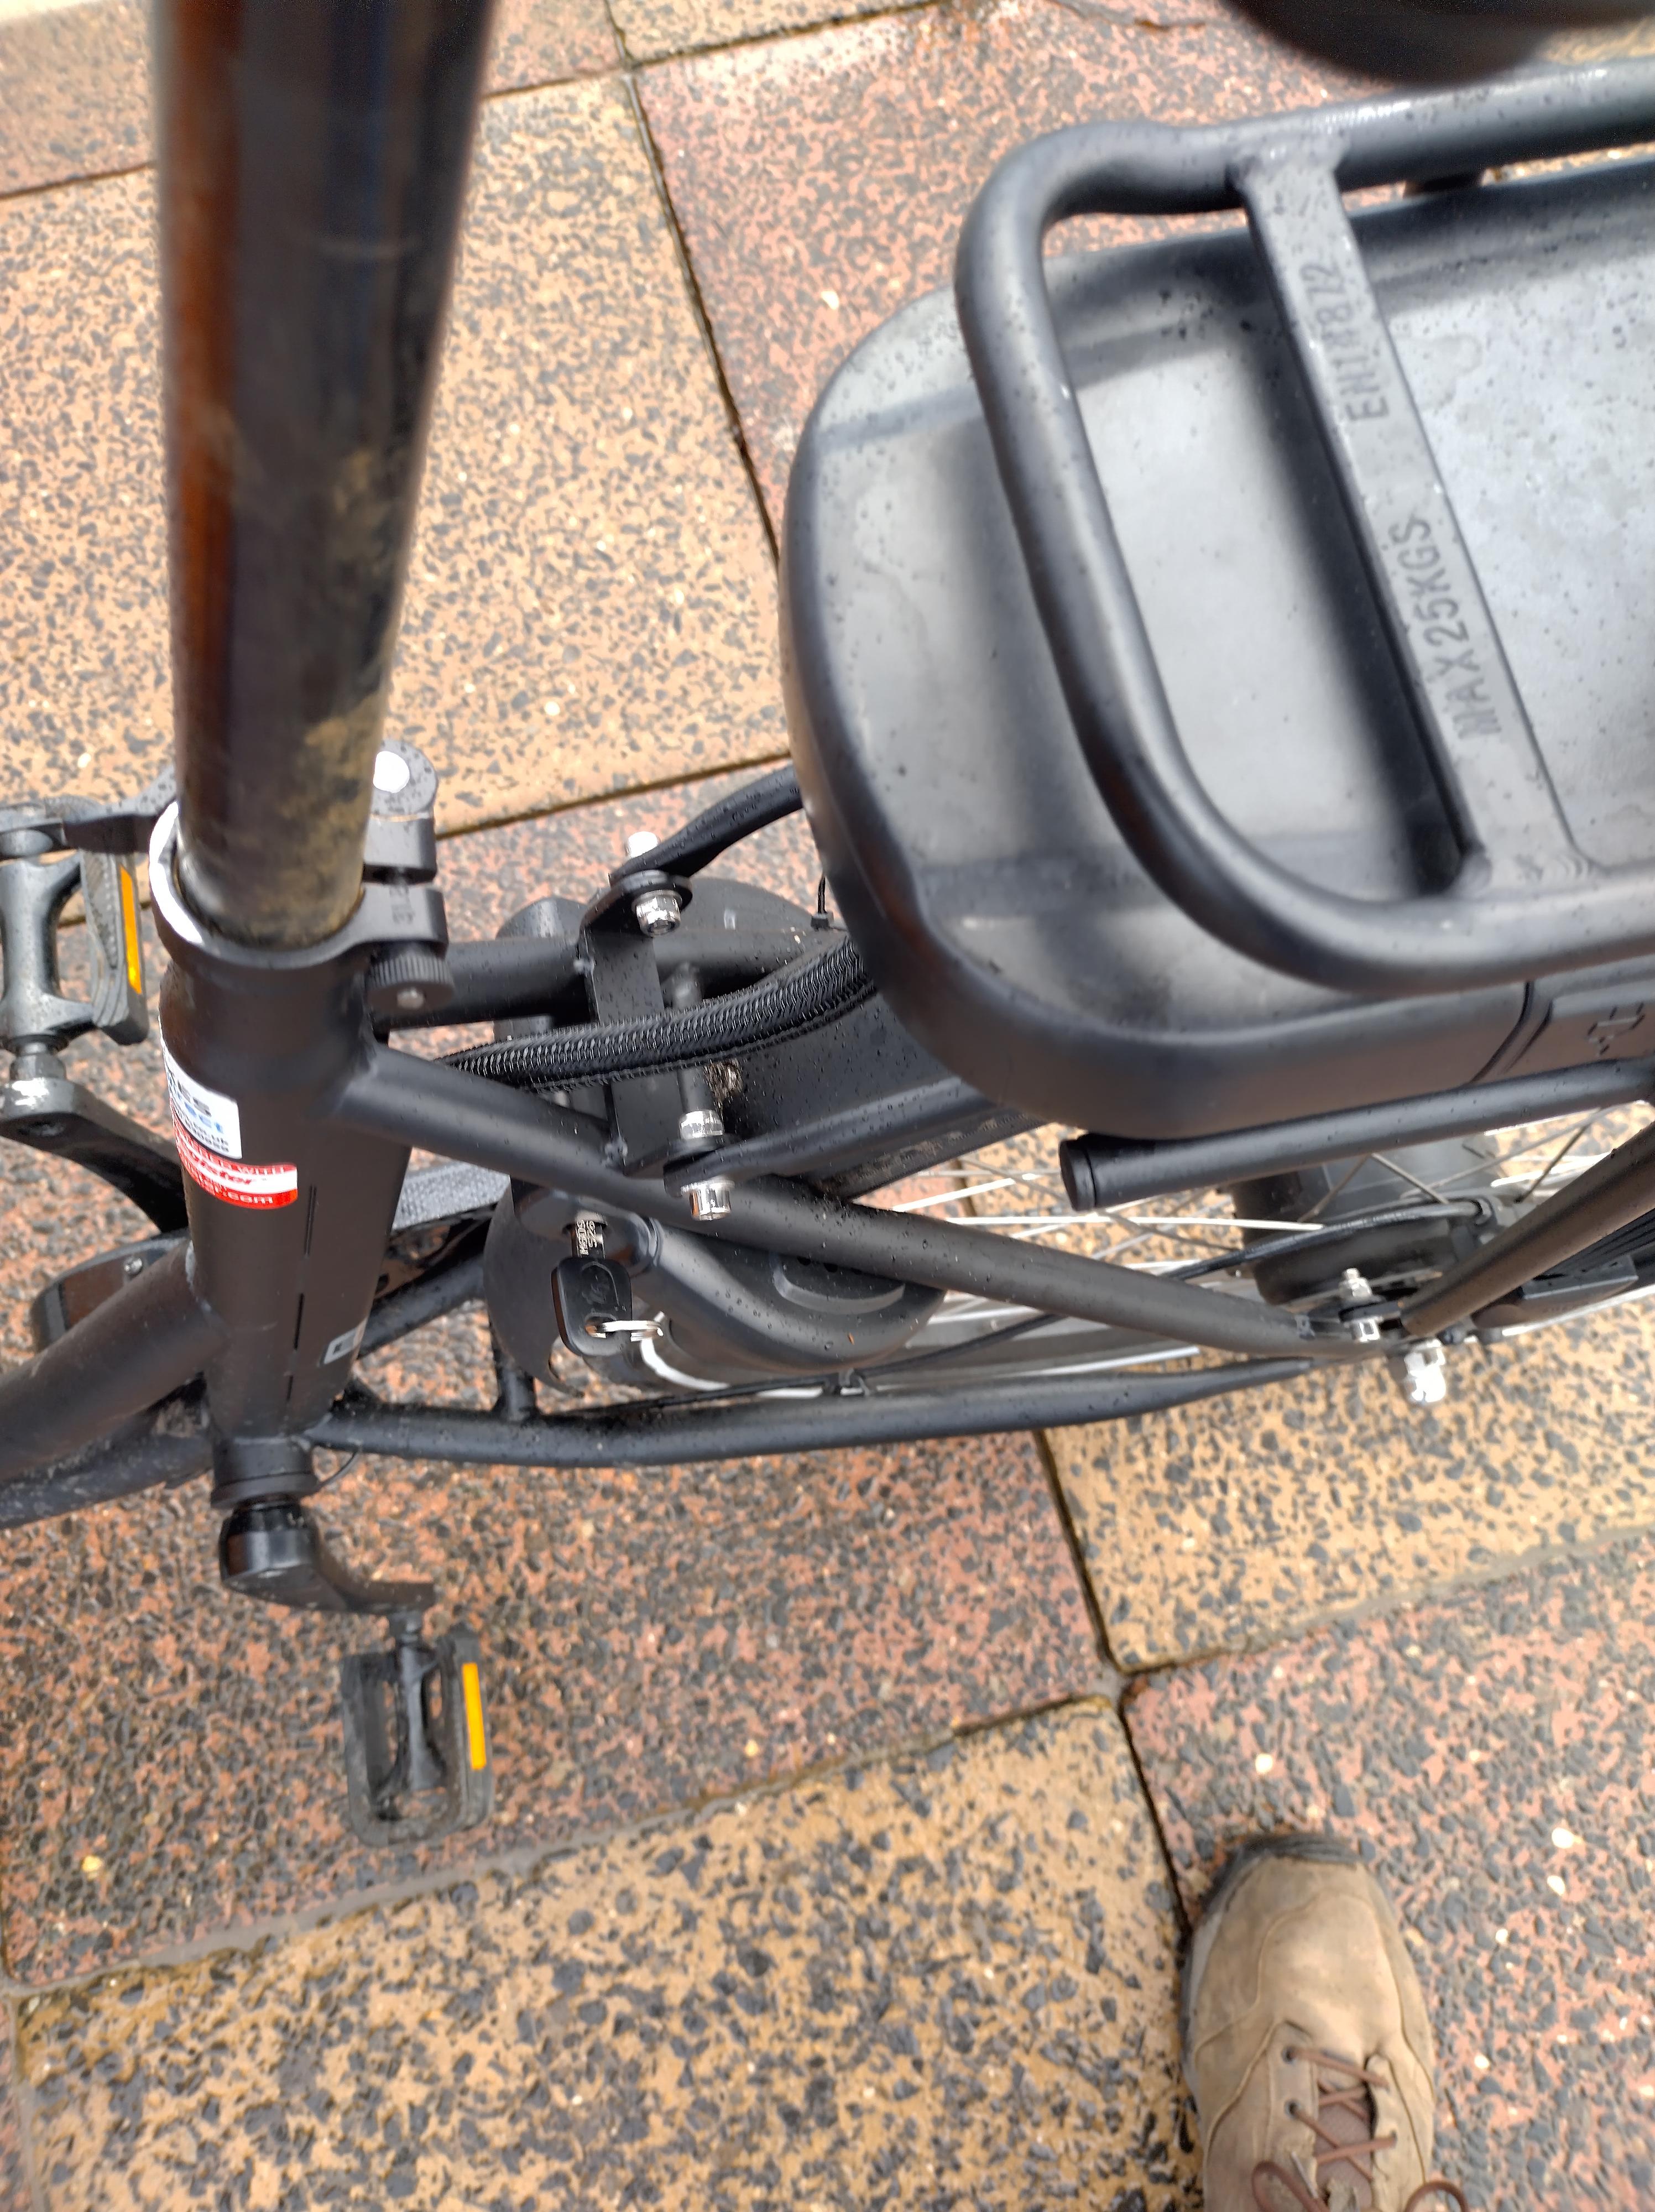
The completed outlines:
{"type": "Polygon", "coordinates": [[[1655,64],[1438,100],[1173,131],[1091,124],[1009,155],[965,226],[956,301],[993,456],[1091,774],[1159,887],[1252,960],[1330,989],[1438,993],[1655,949],[1655,860],[1573,841],[1343,192],[1655,139],[1655,64]],[[1305,883],[1212,805],[1179,739],[1047,290],[1075,215],[1243,208],[1451,836],[1447,887],[1305,883]]]}

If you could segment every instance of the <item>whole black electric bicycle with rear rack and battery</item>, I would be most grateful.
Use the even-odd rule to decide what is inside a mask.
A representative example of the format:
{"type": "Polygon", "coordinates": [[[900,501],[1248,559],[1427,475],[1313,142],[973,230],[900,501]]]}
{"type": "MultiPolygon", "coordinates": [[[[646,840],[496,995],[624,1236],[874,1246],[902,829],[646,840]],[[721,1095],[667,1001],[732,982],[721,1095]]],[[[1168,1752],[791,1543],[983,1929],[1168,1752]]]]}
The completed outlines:
{"type": "Polygon", "coordinates": [[[1655,1130],[1538,1177],[1491,1135],[1655,1091],[1655,164],[1480,181],[1655,139],[1655,66],[1011,155],[954,299],[805,429],[794,765],[451,942],[436,776],[381,726],[487,9],[159,31],[179,779],[0,812],[0,1128],[153,1234],[33,1301],[0,1520],[210,1471],[228,1590],[383,1619],[363,1840],[487,1818],[482,1650],[330,1553],[319,1451],[743,1458],[1321,1360],[1427,1405],[1458,1347],[1655,1287],[1655,1130]],[[1571,529],[1516,526],[1547,500],[1571,529]],[[814,909],[726,858],[799,807],[814,909]],[[62,1062],[148,1033],[144,854],[173,1139],[62,1062]],[[356,1376],[478,1303],[491,1411],[356,1376]]]}

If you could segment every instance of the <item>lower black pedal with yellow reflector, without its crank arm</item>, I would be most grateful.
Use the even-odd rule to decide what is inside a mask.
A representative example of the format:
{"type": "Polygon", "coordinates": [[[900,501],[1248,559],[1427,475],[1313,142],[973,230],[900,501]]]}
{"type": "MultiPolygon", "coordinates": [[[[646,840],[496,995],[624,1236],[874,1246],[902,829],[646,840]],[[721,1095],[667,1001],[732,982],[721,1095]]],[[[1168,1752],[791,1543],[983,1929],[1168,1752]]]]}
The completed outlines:
{"type": "Polygon", "coordinates": [[[469,1628],[425,1641],[418,1617],[392,1648],[339,1668],[352,1832],[367,1845],[434,1843],[493,1812],[482,1648],[469,1628]]]}

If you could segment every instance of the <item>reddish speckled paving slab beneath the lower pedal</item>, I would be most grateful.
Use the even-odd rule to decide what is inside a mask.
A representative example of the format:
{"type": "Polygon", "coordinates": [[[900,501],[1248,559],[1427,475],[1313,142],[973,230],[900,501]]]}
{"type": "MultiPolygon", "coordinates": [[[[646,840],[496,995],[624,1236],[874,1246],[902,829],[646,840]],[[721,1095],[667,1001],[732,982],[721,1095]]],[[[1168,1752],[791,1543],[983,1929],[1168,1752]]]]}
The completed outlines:
{"type": "MultiPolygon", "coordinates": [[[[462,1383],[467,1347],[425,1349],[414,1385],[445,1365],[462,1383]]],[[[374,1462],[319,1515],[352,1564],[429,1573],[436,1628],[480,1628],[493,1820],[418,1851],[352,1840],[336,1670],[374,1637],[228,1597],[206,1484],[20,1531],[0,1593],[15,1978],[569,1843],[1100,1674],[1020,1438],[646,1473],[374,1462]]]]}

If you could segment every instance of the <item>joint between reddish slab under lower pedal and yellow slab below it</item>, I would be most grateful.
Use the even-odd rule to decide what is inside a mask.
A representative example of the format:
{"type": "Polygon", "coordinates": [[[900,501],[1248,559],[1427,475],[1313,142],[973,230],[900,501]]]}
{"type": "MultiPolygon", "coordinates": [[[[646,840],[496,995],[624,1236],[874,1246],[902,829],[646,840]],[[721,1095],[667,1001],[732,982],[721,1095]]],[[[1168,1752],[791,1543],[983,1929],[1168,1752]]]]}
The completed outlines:
{"type": "MultiPolygon", "coordinates": [[[[290,1913],[270,1913],[261,1920],[243,1920],[230,1927],[210,1929],[204,1936],[190,1938],[190,1942],[159,1944],[155,1951],[137,1951],[131,1958],[122,1958],[106,1966],[93,1966],[86,1973],[62,1973],[42,1982],[20,1982],[11,1971],[0,1971],[0,2004],[9,2006],[15,2022],[18,2008],[33,2006],[35,2000],[73,1995],[77,1989],[108,1986],[124,1982],[135,1973],[168,1973],[179,1966],[195,1966],[204,1958],[219,1958],[228,1951],[237,1955],[252,1955],[266,1944],[290,1942],[294,1936],[308,1936],[312,1929],[332,1927],[341,1920],[358,1918],[361,1913],[392,1911],[414,1898],[443,1896],[445,1889],[456,1889],[460,1882],[476,1882],[489,1874],[527,1882],[533,1880],[542,1867],[553,1867],[600,1845],[615,1845],[635,1836],[659,1834],[662,1829],[695,1820],[699,1814],[721,1812],[732,1805],[750,1805],[759,1798],[779,1798],[792,1790],[812,1790],[836,1781],[841,1774],[870,1774],[876,1767],[889,1767],[905,1759],[925,1759],[929,1752],[938,1752],[947,1743],[967,1743],[976,1736],[993,1734],[996,1730],[1022,1728],[1027,1721],[1038,1721],[1051,1712],[1066,1712],[1071,1705],[1095,1705],[1100,1701],[1111,1705],[1115,1719],[1122,1721],[1122,1734],[1126,1734],[1122,1701],[1115,1694],[1115,1688],[1100,1677],[1075,1690],[1064,1690],[1060,1697],[1035,1699],[1029,1705],[1018,1705],[1013,1712],[987,1714],[985,1719],[960,1721],[951,1728],[934,1728],[920,1736],[903,1736],[898,1743],[887,1743],[874,1752],[852,1759],[821,1759],[808,1767],[794,1767],[788,1774],[768,1774],[763,1781],[757,1781],[746,1790],[708,1790],[704,1796],[684,1798],[677,1805],[664,1805],[659,1812],[650,1812],[642,1820],[617,1820],[602,1827],[577,1829],[551,1849],[540,1843],[527,1843],[516,1851],[482,1854],[449,1867],[434,1867],[427,1874],[416,1874],[400,1882],[352,1889],[343,1896],[330,1898],[325,1905],[290,1913]]],[[[1177,1896],[1177,1891],[1173,1893],[1177,1896]]]]}

